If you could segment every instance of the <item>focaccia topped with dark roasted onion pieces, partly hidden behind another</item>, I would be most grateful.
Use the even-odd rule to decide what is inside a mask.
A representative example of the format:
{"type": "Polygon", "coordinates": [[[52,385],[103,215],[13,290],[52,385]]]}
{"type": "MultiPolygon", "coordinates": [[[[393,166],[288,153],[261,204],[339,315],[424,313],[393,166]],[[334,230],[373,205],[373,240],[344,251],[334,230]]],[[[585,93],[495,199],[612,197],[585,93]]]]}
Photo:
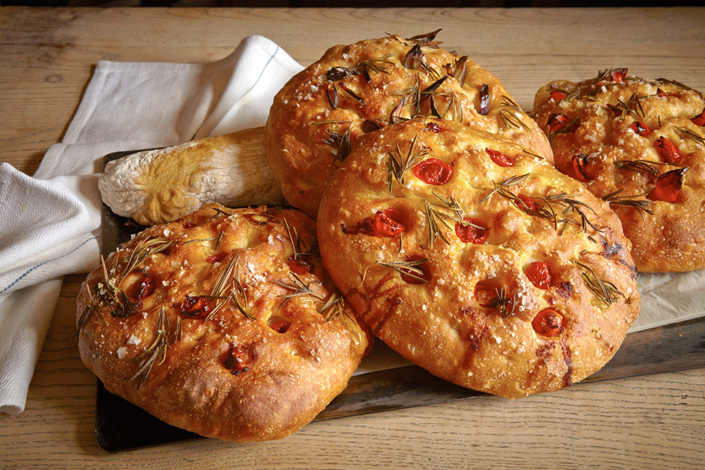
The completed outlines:
{"type": "Polygon", "coordinates": [[[436,32],[335,46],[276,94],[264,149],[284,197],[315,217],[331,173],[366,132],[439,116],[553,161],[541,130],[489,71],[444,51],[436,32]]]}

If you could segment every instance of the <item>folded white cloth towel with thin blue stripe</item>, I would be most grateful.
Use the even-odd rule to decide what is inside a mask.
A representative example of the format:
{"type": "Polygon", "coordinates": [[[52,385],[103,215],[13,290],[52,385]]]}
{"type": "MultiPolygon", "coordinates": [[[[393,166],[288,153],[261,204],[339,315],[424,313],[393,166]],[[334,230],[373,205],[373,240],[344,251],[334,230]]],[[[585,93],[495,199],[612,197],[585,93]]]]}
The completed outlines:
{"type": "Polygon", "coordinates": [[[61,276],[99,263],[102,157],[264,125],[301,69],[261,36],[212,63],[99,61],[35,175],[0,165],[0,412],[25,407],[61,276]]]}

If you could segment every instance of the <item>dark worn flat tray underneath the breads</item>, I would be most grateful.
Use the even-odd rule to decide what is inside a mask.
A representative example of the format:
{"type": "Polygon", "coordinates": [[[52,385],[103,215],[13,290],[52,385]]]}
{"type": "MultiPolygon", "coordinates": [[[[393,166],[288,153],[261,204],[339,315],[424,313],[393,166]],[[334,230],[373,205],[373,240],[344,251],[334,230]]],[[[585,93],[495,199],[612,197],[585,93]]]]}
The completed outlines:
{"type": "MultiPolygon", "coordinates": [[[[132,151],[104,157],[104,163],[132,151]]],[[[117,245],[141,226],[116,216],[108,206],[102,209],[102,254],[108,256],[117,245]]],[[[627,335],[606,366],[584,382],[642,376],[705,366],[705,317],[627,335]]],[[[353,376],[343,390],[314,421],[343,416],[417,407],[424,404],[467,400],[486,396],[432,376],[418,366],[404,366],[353,376]]],[[[202,436],[170,426],[127,400],[108,392],[98,381],[95,432],[107,452],[197,439],[202,436]]]]}

